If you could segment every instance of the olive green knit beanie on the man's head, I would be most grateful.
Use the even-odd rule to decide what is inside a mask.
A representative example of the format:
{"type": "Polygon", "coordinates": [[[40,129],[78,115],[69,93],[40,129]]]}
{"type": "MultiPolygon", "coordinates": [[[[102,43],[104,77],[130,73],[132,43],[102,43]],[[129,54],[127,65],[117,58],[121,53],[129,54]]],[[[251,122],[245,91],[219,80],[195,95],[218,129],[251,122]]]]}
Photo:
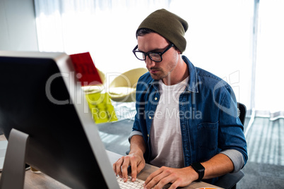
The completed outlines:
{"type": "Polygon", "coordinates": [[[186,20],[170,11],[160,9],[150,13],[139,25],[136,30],[136,36],[138,30],[141,28],[148,28],[157,32],[162,35],[162,37],[172,42],[174,46],[182,52],[187,47],[187,40],[184,38],[184,33],[187,31],[187,28],[189,28],[189,25],[186,20]]]}

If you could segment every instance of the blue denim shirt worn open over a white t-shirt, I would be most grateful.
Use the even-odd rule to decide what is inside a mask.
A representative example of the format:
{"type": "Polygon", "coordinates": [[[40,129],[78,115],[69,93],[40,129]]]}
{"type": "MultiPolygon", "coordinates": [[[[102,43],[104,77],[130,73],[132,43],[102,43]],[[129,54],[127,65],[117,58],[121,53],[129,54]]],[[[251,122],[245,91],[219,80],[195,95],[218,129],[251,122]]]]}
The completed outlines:
{"type": "MultiPolygon", "coordinates": [[[[237,116],[235,94],[224,80],[196,68],[182,56],[189,69],[189,83],[179,96],[184,166],[211,159],[222,150],[237,150],[246,164],[247,142],[237,116]]],[[[142,133],[146,142],[144,158],[151,157],[150,129],[160,99],[158,80],[146,73],[136,87],[136,116],[131,135],[142,133]]]]}

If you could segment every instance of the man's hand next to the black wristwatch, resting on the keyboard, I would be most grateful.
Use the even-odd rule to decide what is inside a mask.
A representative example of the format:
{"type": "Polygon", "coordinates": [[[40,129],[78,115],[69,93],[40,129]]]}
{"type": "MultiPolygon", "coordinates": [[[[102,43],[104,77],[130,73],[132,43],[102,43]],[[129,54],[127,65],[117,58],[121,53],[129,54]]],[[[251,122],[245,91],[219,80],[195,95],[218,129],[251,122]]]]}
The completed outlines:
{"type": "Polygon", "coordinates": [[[174,189],[187,186],[198,178],[198,173],[196,173],[191,166],[182,169],[162,166],[148,176],[144,183],[144,187],[148,189],[162,188],[164,185],[167,185],[167,183],[172,183],[169,189],[174,189]]]}

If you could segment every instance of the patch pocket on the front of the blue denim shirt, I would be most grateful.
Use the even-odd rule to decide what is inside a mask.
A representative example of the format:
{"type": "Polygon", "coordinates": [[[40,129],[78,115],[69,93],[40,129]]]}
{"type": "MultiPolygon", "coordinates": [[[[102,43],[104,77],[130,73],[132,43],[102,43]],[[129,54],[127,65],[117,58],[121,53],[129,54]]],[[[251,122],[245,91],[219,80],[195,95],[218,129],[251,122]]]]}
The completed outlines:
{"type": "Polygon", "coordinates": [[[216,123],[200,123],[197,126],[199,148],[203,150],[217,150],[218,121],[216,123]]]}

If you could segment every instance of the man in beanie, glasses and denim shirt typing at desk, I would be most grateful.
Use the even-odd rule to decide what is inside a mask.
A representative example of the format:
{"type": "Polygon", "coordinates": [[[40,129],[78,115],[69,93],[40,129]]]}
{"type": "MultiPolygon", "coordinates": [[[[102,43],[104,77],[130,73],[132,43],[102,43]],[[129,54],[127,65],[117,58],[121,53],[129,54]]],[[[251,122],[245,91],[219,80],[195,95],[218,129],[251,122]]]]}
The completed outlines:
{"type": "Polygon", "coordinates": [[[177,188],[201,179],[214,183],[247,162],[234,92],[225,81],[182,56],[187,28],[185,20],[161,9],[136,31],[134,54],[145,61],[149,72],[136,87],[130,152],[113,165],[124,181],[128,166],[135,181],[149,163],[160,169],[148,176],[145,188],[167,183],[177,188]]]}

